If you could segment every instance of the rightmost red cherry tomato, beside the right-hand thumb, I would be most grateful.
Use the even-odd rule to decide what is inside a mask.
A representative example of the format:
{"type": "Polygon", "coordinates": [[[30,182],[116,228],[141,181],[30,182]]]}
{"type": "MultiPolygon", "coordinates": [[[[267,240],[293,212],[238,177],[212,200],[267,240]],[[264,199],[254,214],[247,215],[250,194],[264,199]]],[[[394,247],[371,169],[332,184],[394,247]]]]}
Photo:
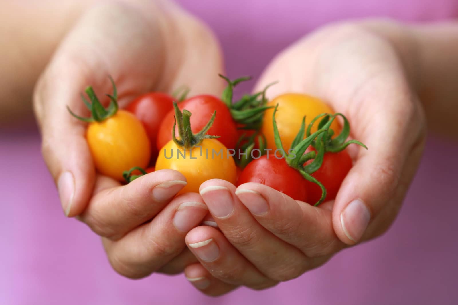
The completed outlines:
{"type": "MultiPolygon", "coordinates": [[[[306,164],[311,161],[312,160],[307,161],[306,164]]],[[[336,198],[340,185],[352,166],[353,162],[346,150],[342,150],[338,153],[327,152],[324,154],[322,166],[311,175],[326,187],[327,195],[325,201],[336,198]]],[[[309,202],[317,202],[321,197],[321,188],[313,182],[307,180],[305,180],[305,182],[307,185],[309,202]]]]}

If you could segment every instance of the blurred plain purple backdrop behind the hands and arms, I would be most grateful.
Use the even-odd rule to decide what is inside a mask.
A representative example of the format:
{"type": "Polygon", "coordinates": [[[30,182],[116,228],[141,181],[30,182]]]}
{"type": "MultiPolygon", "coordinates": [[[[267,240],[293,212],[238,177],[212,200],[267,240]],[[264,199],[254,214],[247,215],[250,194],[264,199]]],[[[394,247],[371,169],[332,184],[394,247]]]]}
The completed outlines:
{"type": "MultiPolygon", "coordinates": [[[[458,16],[453,0],[181,0],[224,49],[228,74],[258,76],[282,48],[329,21],[458,16]],[[372,4],[377,2],[377,4],[372,4]]],[[[248,87],[245,87],[248,89],[248,87]]],[[[218,299],[182,275],[122,278],[99,238],[66,219],[36,131],[0,131],[0,304],[457,304],[458,146],[429,139],[398,219],[387,234],[338,253],[322,268],[262,292],[218,299]]]]}

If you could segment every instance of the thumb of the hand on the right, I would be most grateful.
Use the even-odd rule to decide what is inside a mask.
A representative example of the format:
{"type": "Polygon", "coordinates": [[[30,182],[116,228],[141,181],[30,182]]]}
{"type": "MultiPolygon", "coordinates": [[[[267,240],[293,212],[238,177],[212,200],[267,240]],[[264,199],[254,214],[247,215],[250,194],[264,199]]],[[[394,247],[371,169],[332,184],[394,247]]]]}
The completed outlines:
{"type": "MultiPolygon", "coordinates": [[[[387,141],[387,145],[397,146],[397,149],[374,146],[370,154],[360,154],[342,183],[334,204],[333,223],[345,243],[354,244],[380,235],[393,222],[420,163],[424,146],[423,135],[414,143],[405,139],[387,141]]],[[[368,143],[375,145],[371,141],[368,143]]]]}

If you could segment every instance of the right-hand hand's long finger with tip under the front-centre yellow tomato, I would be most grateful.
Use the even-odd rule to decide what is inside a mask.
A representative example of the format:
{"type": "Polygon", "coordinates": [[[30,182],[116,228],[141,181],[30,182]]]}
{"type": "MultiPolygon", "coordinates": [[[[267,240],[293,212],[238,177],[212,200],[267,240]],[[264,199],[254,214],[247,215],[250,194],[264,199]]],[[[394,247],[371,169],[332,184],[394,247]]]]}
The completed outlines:
{"type": "Polygon", "coordinates": [[[304,273],[309,268],[305,254],[260,225],[234,191],[221,179],[208,180],[199,190],[227,240],[268,278],[282,281],[304,273]]]}

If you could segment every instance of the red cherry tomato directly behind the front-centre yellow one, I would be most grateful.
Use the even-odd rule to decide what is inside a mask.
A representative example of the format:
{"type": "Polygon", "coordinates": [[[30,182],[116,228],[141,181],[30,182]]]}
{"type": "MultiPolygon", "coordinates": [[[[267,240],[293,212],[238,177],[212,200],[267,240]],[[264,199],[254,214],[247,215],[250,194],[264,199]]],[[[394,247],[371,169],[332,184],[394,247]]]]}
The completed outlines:
{"type": "MultiPolygon", "coordinates": [[[[215,121],[207,134],[220,136],[218,141],[226,148],[235,148],[238,140],[237,128],[229,108],[220,99],[210,95],[194,96],[184,102],[180,102],[178,108],[180,110],[186,109],[192,113],[191,130],[193,133],[202,130],[216,110],[215,121]]],[[[161,150],[172,139],[171,130],[173,130],[174,115],[174,110],[171,110],[161,123],[156,142],[158,150],[161,150]]],[[[179,137],[178,128],[175,129],[175,136],[179,137]]]]}

